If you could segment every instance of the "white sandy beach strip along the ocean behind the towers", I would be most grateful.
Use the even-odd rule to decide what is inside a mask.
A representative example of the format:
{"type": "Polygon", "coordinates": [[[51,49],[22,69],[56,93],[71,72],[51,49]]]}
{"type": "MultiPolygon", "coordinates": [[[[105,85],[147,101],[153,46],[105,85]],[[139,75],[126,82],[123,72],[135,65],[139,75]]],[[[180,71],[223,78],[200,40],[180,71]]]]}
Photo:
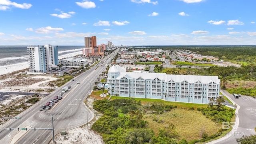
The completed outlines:
{"type": "MultiPolygon", "coordinates": [[[[77,56],[77,55],[80,55],[80,54],[82,54],[82,50],[79,51],[79,52],[73,52],[73,53],[70,53],[70,54],[64,54],[64,55],[58,56],[58,59],[77,56]]],[[[18,70],[24,70],[28,67],[29,67],[29,62],[23,62],[23,63],[12,64],[12,65],[7,65],[7,66],[0,66],[0,75],[9,74],[11,72],[15,72],[15,71],[18,71],[18,70]]]]}

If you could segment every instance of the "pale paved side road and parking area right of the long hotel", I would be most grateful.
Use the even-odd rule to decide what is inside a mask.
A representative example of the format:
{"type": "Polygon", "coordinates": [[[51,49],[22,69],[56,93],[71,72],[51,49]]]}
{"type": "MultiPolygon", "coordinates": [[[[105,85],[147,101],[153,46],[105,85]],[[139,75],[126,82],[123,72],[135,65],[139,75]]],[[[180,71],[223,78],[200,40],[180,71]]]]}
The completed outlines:
{"type": "Polygon", "coordinates": [[[236,126],[237,123],[234,123],[235,125],[230,123],[230,126],[234,125],[234,130],[227,134],[226,137],[228,138],[220,138],[207,144],[236,144],[236,138],[241,138],[243,135],[256,134],[254,130],[256,127],[256,99],[251,96],[241,96],[236,99],[226,91],[222,93],[240,106],[237,114],[239,124],[236,126]]]}

